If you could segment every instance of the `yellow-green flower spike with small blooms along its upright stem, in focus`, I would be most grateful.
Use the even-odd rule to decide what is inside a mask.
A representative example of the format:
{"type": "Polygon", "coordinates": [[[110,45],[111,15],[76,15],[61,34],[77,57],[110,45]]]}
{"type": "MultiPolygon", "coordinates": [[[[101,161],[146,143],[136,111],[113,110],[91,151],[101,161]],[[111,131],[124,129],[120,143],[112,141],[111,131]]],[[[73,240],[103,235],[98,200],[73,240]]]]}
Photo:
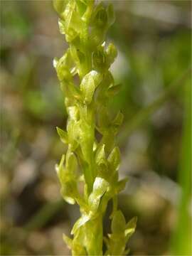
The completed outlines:
{"type": "Polygon", "coordinates": [[[114,23],[113,7],[92,0],[55,0],[53,6],[60,33],[69,44],[65,54],[53,60],[68,112],[66,131],[57,128],[68,151],[56,171],[63,198],[78,203],[81,213],[71,231],[73,238],[63,235],[63,239],[73,255],[125,255],[137,219],[126,223],[117,209],[117,194],[127,178],[119,181],[120,152],[114,145],[123,115],[111,117],[107,109],[110,97],[119,91],[109,70],[117,49],[105,43],[107,29],[114,23]],[[112,233],[104,238],[102,218],[110,200],[112,233]]]}

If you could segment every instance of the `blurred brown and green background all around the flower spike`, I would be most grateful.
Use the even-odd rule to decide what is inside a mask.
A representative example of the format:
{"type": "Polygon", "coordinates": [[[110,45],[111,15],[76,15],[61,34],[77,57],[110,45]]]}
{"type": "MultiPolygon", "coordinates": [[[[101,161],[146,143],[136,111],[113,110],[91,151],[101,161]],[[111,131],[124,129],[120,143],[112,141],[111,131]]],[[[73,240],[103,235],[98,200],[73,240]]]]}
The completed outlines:
{"type": "MultiPolygon", "coordinates": [[[[191,255],[191,1],[112,3],[119,208],[139,218],[130,255],[191,255]]],[[[52,65],[67,47],[51,1],[1,1],[1,255],[70,254],[62,234],[79,210],[55,174],[67,116],[52,65]]]]}

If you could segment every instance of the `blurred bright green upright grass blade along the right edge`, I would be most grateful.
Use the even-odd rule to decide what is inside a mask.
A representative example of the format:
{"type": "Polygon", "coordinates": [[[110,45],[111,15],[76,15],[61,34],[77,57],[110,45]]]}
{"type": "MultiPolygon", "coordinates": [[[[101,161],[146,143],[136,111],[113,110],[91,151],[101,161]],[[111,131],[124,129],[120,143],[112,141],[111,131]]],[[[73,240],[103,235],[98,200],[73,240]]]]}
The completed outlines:
{"type": "Polygon", "coordinates": [[[178,206],[178,218],[171,240],[171,252],[174,255],[192,255],[191,230],[191,83],[185,87],[185,116],[183,120],[183,138],[181,141],[181,163],[178,171],[178,182],[182,193],[178,206]],[[185,238],[185,239],[183,239],[185,238]]]}

